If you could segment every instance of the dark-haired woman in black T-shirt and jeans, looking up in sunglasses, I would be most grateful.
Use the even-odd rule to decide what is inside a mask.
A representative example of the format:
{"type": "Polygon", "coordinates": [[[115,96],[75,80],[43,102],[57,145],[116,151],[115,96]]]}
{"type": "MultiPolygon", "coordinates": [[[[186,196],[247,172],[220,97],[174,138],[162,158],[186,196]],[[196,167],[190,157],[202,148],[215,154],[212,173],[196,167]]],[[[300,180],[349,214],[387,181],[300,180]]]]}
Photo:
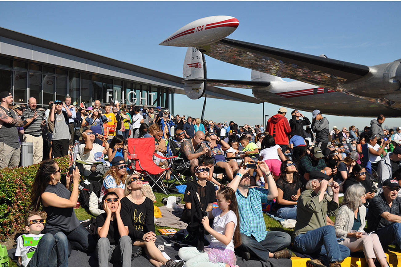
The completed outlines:
{"type": "Polygon", "coordinates": [[[275,209],[277,215],[283,219],[297,218],[297,201],[301,195],[302,182],[296,164],[287,160],[281,164],[281,173],[276,181],[278,197],[275,209]]]}

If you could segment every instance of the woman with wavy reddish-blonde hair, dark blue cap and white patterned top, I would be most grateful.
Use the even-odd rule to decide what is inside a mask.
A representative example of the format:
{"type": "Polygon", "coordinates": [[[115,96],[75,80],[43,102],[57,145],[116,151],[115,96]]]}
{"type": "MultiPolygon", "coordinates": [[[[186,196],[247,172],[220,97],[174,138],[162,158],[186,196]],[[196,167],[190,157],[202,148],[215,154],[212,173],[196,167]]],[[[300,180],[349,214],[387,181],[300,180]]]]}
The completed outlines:
{"type": "Polygon", "coordinates": [[[127,165],[123,157],[117,156],[113,158],[111,168],[104,175],[99,203],[101,203],[103,196],[109,192],[115,192],[120,199],[124,197],[125,181],[128,176],[126,169],[127,165]]]}

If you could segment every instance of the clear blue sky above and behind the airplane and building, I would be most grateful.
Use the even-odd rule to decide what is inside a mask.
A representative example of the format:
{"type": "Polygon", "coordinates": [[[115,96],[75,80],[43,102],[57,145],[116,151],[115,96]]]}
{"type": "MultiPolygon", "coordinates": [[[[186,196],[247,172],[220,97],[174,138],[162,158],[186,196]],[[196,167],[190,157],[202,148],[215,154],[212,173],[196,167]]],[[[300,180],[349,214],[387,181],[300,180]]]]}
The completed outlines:
{"type": "MultiPolygon", "coordinates": [[[[240,24],[229,38],[369,66],[401,58],[400,7],[400,2],[0,2],[0,26],[182,76],[186,48],[158,44],[198,18],[234,16],[240,24]]],[[[249,69],[206,60],[209,78],[250,79],[249,69]]],[[[176,95],[175,103],[175,113],[201,116],[203,98],[176,95]]],[[[265,104],[265,114],[277,109],[265,104]]],[[[205,118],[260,124],[262,104],[210,98],[205,118]]],[[[330,128],[360,129],[372,119],[327,118],[330,128]]],[[[401,120],[387,118],[384,124],[401,126],[401,120]]]]}

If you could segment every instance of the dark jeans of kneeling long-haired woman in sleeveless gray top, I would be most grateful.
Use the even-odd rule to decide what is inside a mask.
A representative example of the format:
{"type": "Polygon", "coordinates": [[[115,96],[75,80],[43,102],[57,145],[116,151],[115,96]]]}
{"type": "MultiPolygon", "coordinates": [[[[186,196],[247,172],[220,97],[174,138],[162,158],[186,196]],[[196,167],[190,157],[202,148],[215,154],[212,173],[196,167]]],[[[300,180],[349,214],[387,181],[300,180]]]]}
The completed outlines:
{"type": "MultiPolygon", "coordinates": [[[[55,235],[56,233],[63,233],[61,230],[47,230],[46,233],[55,235]]],[[[95,250],[96,242],[92,235],[83,227],[79,225],[71,232],[64,233],[69,241],[68,251],[71,254],[71,249],[79,250],[89,253],[95,250]]]]}

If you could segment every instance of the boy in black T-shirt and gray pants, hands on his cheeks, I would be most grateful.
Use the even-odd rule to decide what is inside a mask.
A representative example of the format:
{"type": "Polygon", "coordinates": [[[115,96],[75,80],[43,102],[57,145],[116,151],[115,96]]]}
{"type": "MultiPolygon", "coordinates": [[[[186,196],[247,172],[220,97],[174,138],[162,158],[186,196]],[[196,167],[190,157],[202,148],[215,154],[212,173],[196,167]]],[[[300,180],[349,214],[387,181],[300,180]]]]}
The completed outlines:
{"type": "Polygon", "coordinates": [[[97,261],[99,267],[109,266],[111,258],[121,261],[122,267],[131,266],[132,241],[128,236],[128,226],[124,225],[120,211],[121,203],[115,192],[103,196],[105,213],[96,217],[97,234],[97,261]]]}

